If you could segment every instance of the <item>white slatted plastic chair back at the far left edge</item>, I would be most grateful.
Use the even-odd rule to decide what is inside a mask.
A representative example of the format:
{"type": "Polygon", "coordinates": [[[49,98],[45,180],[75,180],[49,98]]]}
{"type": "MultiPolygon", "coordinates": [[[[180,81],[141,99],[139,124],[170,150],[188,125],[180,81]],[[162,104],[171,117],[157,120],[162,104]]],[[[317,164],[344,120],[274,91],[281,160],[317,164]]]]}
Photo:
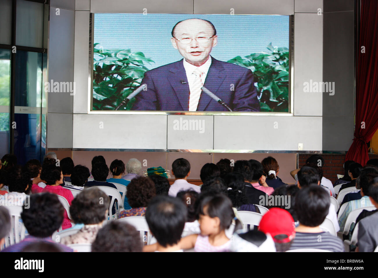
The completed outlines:
{"type": "MultiPolygon", "coordinates": [[[[5,236],[5,247],[12,244],[19,243],[25,238],[25,225],[20,222],[22,206],[5,206],[9,211],[9,216],[11,217],[11,230],[9,235],[5,236]]],[[[1,246],[2,249],[2,246],[1,246]]]]}

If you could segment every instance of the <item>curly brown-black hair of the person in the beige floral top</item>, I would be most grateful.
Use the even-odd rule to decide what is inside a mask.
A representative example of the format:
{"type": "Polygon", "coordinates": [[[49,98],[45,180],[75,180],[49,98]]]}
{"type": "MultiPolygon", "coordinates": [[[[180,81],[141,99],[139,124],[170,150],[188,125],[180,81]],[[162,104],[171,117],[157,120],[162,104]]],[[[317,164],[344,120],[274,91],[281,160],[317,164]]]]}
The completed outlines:
{"type": "Polygon", "coordinates": [[[72,200],[70,214],[75,223],[98,224],[104,221],[109,205],[110,199],[103,191],[95,187],[86,188],[72,200]]]}

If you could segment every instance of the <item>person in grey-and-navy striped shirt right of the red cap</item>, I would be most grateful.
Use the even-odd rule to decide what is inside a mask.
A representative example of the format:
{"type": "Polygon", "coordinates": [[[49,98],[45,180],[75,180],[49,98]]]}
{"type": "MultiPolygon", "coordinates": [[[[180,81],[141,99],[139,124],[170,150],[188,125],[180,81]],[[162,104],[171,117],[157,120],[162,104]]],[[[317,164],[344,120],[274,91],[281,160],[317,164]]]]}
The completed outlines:
{"type": "Polygon", "coordinates": [[[295,210],[299,226],[295,229],[296,234],[291,242],[290,250],[315,248],[344,252],[341,239],[319,228],[328,214],[330,202],[327,192],[316,184],[306,186],[297,193],[295,210]]]}

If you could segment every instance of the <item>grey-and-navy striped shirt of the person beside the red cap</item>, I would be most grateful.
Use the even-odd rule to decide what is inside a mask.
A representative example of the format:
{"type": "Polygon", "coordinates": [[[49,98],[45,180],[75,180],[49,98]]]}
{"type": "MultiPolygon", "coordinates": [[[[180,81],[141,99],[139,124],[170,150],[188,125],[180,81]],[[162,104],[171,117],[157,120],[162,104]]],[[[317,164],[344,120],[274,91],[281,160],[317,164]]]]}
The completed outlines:
{"type": "Polygon", "coordinates": [[[328,232],[322,233],[295,233],[290,250],[302,248],[323,249],[332,252],[344,252],[344,244],[337,236],[328,232]]]}

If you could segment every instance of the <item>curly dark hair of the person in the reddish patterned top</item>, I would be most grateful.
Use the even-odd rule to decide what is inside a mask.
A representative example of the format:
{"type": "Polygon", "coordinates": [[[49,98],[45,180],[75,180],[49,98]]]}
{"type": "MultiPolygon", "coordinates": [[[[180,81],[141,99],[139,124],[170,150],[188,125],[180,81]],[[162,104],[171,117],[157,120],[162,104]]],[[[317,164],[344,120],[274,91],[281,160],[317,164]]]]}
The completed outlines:
{"type": "Polygon", "coordinates": [[[155,196],[155,184],[150,178],[136,177],[127,185],[126,197],[132,208],[147,207],[155,196]]]}

